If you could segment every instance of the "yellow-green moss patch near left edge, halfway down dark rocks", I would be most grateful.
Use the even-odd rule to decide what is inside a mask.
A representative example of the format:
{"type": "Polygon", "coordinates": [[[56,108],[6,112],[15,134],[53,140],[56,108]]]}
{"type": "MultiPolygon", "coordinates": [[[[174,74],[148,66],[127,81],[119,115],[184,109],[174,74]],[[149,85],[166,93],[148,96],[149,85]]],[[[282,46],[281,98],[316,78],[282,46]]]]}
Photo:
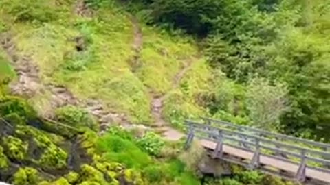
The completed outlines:
{"type": "Polygon", "coordinates": [[[14,160],[23,160],[28,152],[28,143],[13,136],[3,138],[3,147],[6,155],[14,160]]]}

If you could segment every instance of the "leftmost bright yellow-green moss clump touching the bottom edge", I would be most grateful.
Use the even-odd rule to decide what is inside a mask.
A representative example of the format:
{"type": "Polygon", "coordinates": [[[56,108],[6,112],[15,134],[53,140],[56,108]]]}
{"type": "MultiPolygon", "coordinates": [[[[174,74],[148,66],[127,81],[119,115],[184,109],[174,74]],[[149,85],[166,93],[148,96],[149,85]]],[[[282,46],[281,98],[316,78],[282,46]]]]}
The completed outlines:
{"type": "Polygon", "coordinates": [[[14,174],[13,184],[15,185],[34,185],[39,182],[39,174],[36,169],[25,167],[19,169],[14,174]]]}

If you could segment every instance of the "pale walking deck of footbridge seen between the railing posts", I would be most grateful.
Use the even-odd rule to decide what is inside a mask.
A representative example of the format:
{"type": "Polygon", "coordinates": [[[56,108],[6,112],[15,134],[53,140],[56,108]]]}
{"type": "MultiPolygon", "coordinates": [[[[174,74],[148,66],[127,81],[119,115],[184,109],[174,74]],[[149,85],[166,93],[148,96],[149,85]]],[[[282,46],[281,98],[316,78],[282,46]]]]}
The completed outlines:
{"type": "MultiPolygon", "coordinates": [[[[213,141],[210,140],[205,140],[202,139],[200,140],[201,145],[203,147],[206,147],[208,149],[215,149],[217,143],[214,143],[213,141]]],[[[246,160],[251,160],[253,157],[253,153],[249,151],[243,151],[241,149],[236,149],[235,147],[230,147],[228,145],[223,145],[223,152],[228,153],[231,156],[235,156],[238,158],[243,158],[246,160]]],[[[276,167],[277,169],[281,169],[283,171],[288,171],[292,173],[296,173],[298,170],[298,165],[297,164],[292,164],[290,162],[285,162],[281,161],[275,158],[271,158],[269,156],[260,156],[260,162],[261,164],[265,164],[270,167],[276,167]]],[[[318,171],[316,169],[306,169],[306,176],[311,177],[316,180],[322,180],[324,182],[329,182],[330,183],[330,175],[329,173],[323,172],[323,171],[318,171]]]]}

